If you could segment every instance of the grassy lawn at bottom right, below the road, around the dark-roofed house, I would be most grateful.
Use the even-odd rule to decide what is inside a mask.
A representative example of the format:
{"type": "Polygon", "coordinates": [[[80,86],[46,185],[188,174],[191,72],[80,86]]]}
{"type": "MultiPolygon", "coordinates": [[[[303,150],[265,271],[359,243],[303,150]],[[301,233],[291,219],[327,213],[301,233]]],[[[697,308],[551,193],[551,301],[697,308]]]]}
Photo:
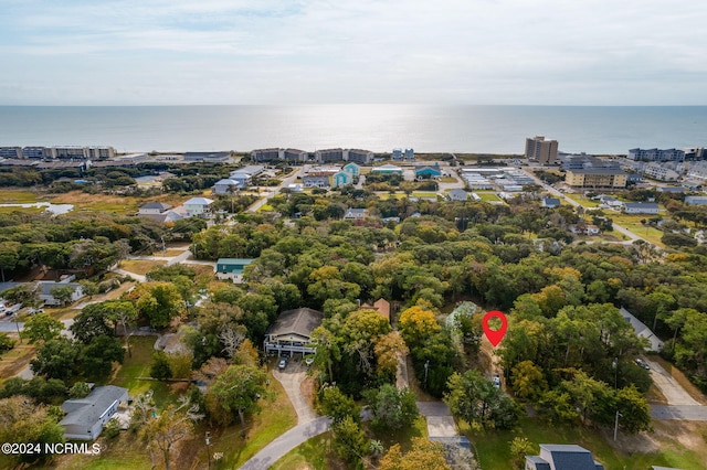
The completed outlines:
{"type": "MultiPolygon", "coordinates": [[[[677,426],[685,425],[676,421],[677,426]]],[[[622,436],[618,448],[610,445],[611,432],[597,431],[588,428],[570,428],[551,426],[537,418],[524,418],[518,429],[513,431],[472,431],[466,424],[461,423],[461,430],[472,441],[476,449],[478,462],[483,469],[509,469],[511,467],[510,441],[519,436],[527,437],[539,451],[540,444],[578,444],[592,451],[593,457],[604,463],[606,470],[643,469],[651,466],[666,466],[685,469],[704,468],[707,452],[699,449],[700,442],[694,442],[688,448],[675,439],[675,430],[671,430],[669,421],[655,423],[661,432],[646,436],[622,436]],[[666,423],[668,423],[666,425],[666,423]],[[657,446],[656,446],[657,444],[657,446]],[[620,450],[619,447],[623,450],[620,450]]],[[[707,425],[701,424],[701,449],[705,448],[707,425]]],[[[613,442],[611,442],[613,444],[613,442]]]]}

